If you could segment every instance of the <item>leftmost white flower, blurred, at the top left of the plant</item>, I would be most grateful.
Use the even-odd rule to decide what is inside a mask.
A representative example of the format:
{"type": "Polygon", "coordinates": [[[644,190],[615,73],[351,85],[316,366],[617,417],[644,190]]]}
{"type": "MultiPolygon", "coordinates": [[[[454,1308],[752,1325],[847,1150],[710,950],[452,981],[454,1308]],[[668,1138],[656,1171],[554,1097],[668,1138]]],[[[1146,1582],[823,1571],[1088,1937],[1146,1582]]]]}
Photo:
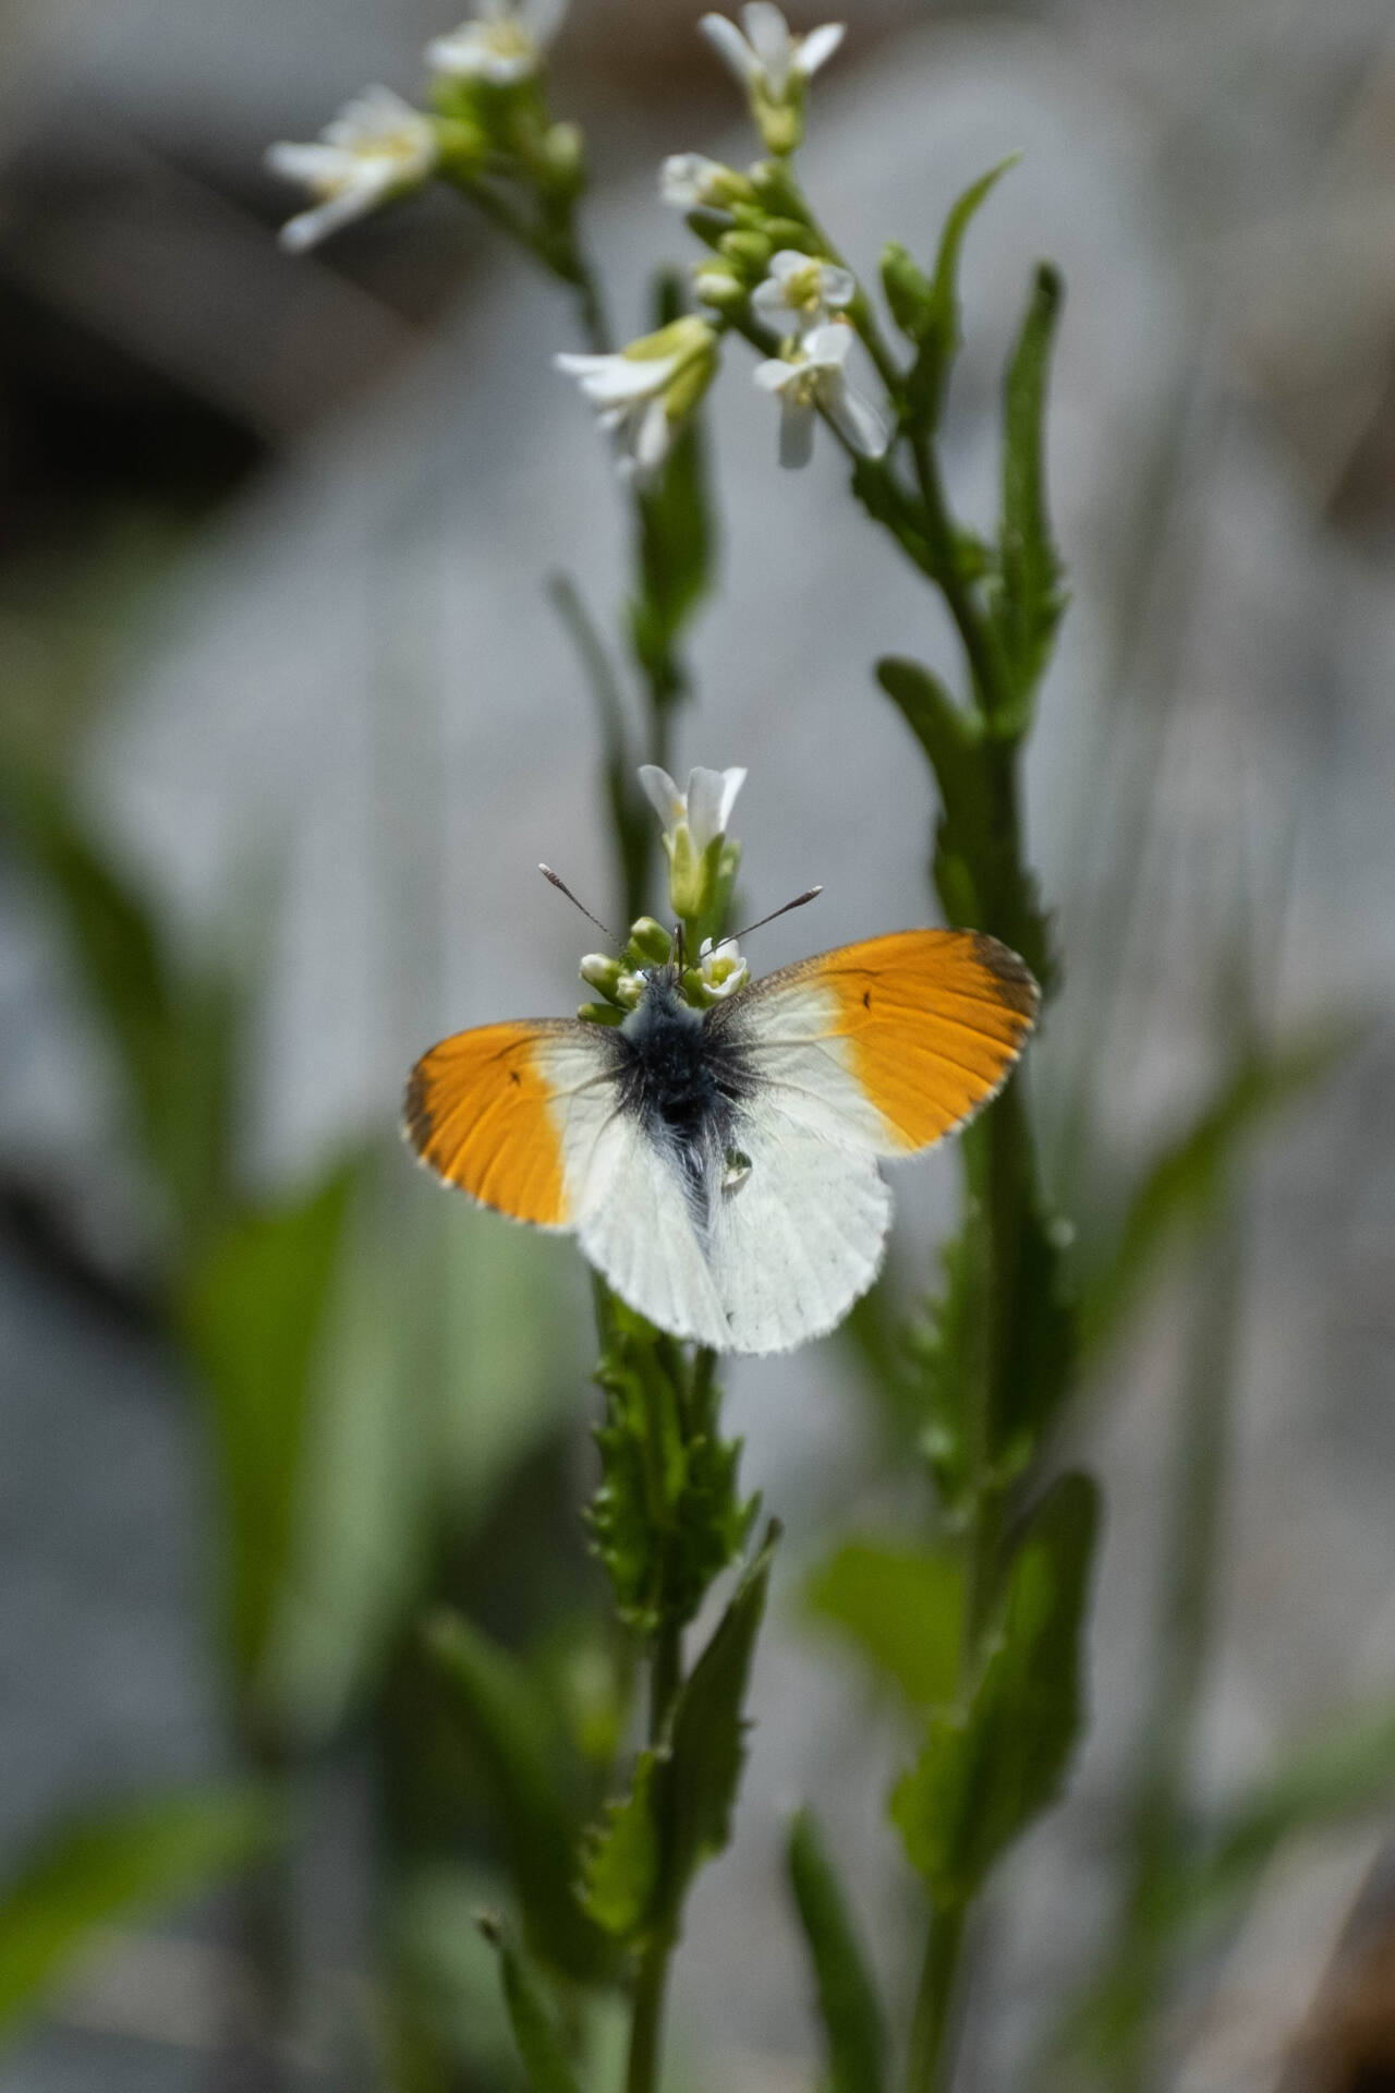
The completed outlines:
{"type": "Polygon", "coordinates": [[[318,144],[274,144],[266,161],[318,199],[280,228],[280,245],[303,253],[425,182],[437,163],[435,126],[391,88],[364,88],[324,126],[318,144]]]}

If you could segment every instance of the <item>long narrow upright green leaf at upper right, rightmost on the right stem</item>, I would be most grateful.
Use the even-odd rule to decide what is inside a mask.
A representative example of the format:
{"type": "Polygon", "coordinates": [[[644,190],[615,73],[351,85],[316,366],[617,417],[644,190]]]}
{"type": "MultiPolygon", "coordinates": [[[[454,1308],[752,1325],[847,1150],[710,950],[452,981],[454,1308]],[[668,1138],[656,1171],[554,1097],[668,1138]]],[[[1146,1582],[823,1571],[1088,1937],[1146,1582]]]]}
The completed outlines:
{"type": "Polygon", "coordinates": [[[1012,680],[1012,703],[996,728],[1019,737],[1065,611],[1060,559],[1046,513],[1046,387],[1062,301],[1048,264],[1035,274],[1004,389],[1000,588],[993,624],[1012,680]]]}

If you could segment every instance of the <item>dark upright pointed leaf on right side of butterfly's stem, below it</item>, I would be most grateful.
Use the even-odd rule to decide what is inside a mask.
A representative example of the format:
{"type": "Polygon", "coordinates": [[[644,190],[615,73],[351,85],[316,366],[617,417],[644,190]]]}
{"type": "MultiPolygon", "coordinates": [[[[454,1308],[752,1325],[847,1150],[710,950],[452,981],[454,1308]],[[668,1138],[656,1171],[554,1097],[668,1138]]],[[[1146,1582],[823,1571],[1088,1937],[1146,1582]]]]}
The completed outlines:
{"type": "Polygon", "coordinates": [[[663,1779],[667,1919],[678,1917],[688,1882],[705,1861],[722,1852],[732,1831],[747,1756],[740,1710],[778,1540],[780,1526],[772,1520],[759,1555],[736,1586],[673,1710],[663,1779]]]}

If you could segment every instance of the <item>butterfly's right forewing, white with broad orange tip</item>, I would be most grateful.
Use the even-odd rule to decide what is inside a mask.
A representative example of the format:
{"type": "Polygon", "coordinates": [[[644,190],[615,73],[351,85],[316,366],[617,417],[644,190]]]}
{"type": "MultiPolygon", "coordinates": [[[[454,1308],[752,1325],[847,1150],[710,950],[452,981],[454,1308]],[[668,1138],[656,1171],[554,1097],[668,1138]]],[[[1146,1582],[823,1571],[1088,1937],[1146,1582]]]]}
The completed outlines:
{"type": "Polygon", "coordinates": [[[782,1116],[843,1149],[912,1155],[998,1095],[1037,1007],[996,938],[904,929],[768,973],[709,1023],[782,1116]]]}

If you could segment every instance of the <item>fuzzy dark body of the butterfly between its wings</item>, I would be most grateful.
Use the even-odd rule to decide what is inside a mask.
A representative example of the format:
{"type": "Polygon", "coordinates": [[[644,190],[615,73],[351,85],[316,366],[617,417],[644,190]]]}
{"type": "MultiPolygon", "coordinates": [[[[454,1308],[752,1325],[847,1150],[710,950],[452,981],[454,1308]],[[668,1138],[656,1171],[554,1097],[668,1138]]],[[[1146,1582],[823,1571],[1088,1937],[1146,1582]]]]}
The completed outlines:
{"type": "Polygon", "coordinates": [[[728,1149],[738,1147],[740,1105],[755,1093],[755,1072],[734,1026],[709,1023],[657,971],[638,1011],[611,1032],[619,1099],[669,1160],[688,1199],[705,1210],[728,1149]],[[715,1178],[713,1178],[715,1172],[715,1178]]]}

